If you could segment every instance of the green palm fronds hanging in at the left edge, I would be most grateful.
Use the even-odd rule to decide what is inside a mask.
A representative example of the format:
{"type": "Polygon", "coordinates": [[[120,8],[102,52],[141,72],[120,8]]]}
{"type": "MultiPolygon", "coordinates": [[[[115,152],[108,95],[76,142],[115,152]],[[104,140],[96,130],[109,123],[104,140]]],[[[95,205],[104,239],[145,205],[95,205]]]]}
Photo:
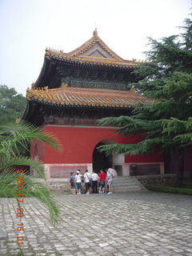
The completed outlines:
{"type": "MultiPolygon", "coordinates": [[[[44,203],[49,212],[51,221],[55,224],[58,222],[59,208],[51,192],[42,182],[38,182],[37,178],[29,174],[22,174],[14,166],[30,166],[38,171],[39,178],[45,178],[42,162],[37,162],[30,157],[22,156],[20,148],[28,146],[31,140],[39,140],[59,149],[56,138],[51,134],[47,134],[39,128],[27,124],[25,122],[14,123],[12,125],[0,126],[0,135],[4,138],[0,142],[0,197],[14,197],[17,194],[23,194],[25,198],[35,197],[44,203]],[[6,137],[4,136],[6,134],[6,137]],[[24,177],[23,177],[24,175],[24,177]],[[18,177],[22,177],[23,182],[18,182],[18,177]]],[[[19,169],[20,170],[20,169],[19,169]]],[[[25,199],[24,198],[24,199],[25,199]]]]}

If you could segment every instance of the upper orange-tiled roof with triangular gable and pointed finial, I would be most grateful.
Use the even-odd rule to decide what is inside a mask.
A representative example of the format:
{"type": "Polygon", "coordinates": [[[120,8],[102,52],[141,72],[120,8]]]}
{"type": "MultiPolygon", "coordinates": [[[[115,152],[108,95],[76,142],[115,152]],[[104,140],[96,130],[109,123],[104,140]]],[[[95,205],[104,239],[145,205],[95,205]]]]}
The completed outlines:
{"type": "MultiPolygon", "coordinates": [[[[137,68],[139,62],[133,60],[125,60],[115,54],[105,42],[98,37],[97,30],[94,30],[92,38],[82,44],[70,53],[64,53],[63,50],[46,49],[42,70],[33,87],[53,86],[47,83],[54,83],[58,87],[58,76],[65,78],[68,75],[62,75],[63,69],[92,69],[92,70],[118,70],[131,71],[137,68]],[[62,68],[63,67],[63,68],[62,68]],[[60,74],[58,74],[60,72],[60,74]]],[[[70,72],[72,74],[73,72],[70,72]]]]}

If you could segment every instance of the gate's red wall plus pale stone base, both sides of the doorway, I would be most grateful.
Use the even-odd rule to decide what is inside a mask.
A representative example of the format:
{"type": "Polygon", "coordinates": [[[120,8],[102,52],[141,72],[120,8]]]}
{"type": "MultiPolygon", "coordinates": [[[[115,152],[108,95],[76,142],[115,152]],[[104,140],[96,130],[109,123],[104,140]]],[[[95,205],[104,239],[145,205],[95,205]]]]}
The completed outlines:
{"type": "MultiPolygon", "coordinates": [[[[114,134],[116,129],[109,127],[46,125],[44,130],[54,134],[62,144],[62,150],[59,152],[41,142],[34,142],[31,146],[31,156],[34,158],[36,150],[39,160],[45,163],[47,178],[67,178],[71,171],[78,169],[88,169],[91,172],[93,152],[98,142],[136,143],[141,140],[139,136],[125,137],[123,134],[114,134]]],[[[130,164],[133,162],[162,162],[162,155],[114,158],[114,165],[122,163],[123,176],[130,174],[130,164]]]]}

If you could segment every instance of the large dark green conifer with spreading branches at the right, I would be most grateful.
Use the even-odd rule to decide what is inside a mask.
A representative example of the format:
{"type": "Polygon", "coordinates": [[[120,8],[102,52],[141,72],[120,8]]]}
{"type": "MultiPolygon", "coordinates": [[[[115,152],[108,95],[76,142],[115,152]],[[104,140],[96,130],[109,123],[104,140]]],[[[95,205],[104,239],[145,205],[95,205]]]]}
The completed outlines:
{"type": "Polygon", "coordinates": [[[138,144],[112,144],[99,149],[106,154],[150,154],[161,150],[179,158],[176,186],[182,185],[185,147],[192,145],[192,22],[185,20],[184,33],[156,41],[150,38],[149,62],[134,73],[140,81],[132,86],[150,99],[139,104],[132,116],[103,118],[102,125],[120,126],[118,133],[142,134],[138,144]]]}

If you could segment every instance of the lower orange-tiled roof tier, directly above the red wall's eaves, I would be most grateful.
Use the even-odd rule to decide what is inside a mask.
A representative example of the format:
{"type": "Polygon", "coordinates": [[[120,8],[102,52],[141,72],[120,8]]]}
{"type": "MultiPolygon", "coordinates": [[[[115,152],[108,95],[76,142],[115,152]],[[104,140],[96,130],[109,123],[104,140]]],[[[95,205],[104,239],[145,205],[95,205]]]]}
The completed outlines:
{"type": "Polygon", "coordinates": [[[30,102],[39,102],[50,106],[134,108],[137,103],[149,104],[142,94],[134,90],[105,90],[76,88],[62,85],[60,88],[28,89],[26,98],[30,102]]]}

